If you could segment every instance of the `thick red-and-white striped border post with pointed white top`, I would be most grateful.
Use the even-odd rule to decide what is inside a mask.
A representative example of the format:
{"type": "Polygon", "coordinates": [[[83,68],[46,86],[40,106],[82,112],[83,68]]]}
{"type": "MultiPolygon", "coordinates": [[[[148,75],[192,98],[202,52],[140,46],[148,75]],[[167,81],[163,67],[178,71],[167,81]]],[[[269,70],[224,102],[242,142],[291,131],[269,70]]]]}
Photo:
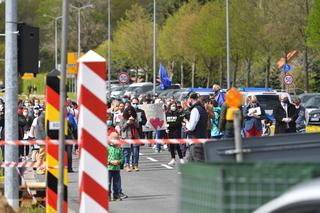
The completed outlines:
{"type": "Polygon", "coordinates": [[[78,60],[79,212],[108,212],[106,60],[89,51],[78,60]]]}

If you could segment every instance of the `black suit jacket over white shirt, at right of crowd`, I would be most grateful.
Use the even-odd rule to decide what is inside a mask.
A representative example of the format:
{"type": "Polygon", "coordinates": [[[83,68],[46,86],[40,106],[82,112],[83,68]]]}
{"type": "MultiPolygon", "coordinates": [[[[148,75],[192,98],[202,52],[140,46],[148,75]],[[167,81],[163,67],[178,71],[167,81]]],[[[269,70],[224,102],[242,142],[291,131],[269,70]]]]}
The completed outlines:
{"type": "Polygon", "coordinates": [[[275,134],[283,134],[296,132],[296,120],[298,118],[296,107],[289,103],[288,104],[288,117],[291,118],[289,123],[289,128],[287,128],[287,123],[283,122],[282,119],[286,118],[286,111],[283,109],[282,105],[279,104],[274,110],[273,115],[276,120],[275,134]]]}

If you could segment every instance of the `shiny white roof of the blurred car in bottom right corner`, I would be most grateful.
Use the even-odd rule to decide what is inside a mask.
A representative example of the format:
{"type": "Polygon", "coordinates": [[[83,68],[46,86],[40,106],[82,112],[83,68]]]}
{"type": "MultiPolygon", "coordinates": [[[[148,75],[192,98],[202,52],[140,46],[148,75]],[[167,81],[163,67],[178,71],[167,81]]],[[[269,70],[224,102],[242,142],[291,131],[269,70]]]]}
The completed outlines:
{"type": "Polygon", "coordinates": [[[267,204],[256,209],[254,213],[265,213],[307,201],[320,202],[320,178],[299,184],[267,204]]]}

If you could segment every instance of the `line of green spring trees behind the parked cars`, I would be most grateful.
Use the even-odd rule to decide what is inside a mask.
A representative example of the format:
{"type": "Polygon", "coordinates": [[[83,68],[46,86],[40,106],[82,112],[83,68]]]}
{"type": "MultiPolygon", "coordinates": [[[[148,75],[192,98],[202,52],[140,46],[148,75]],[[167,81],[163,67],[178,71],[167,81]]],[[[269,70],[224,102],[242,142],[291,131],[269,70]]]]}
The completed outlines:
{"type": "MultiPolygon", "coordinates": [[[[107,57],[107,1],[91,3],[93,9],[81,11],[82,50],[107,57]]],[[[153,1],[111,0],[111,5],[113,77],[127,67],[144,70],[144,79],[151,81],[153,1]]],[[[225,0],[157,0],[157,6],[157,62],[173,81],[185,87],[226,87],[225,0]]],[[[40,27],[43,70],[50,71],[53,20],[43,14],[61,15],[61,0],[20,0],[18,14],[19,21],[40,27]]],[[[70,51],[77,51],[76,15],[70,8],[70,51]]],[[[4,20],[4,4],[0,17],[4,20]]],[[[232,85],[283,88],[281,65],[289,63],[296,88],[320,90],[320,1],[229,0],[229,21],[232,85]]]]}

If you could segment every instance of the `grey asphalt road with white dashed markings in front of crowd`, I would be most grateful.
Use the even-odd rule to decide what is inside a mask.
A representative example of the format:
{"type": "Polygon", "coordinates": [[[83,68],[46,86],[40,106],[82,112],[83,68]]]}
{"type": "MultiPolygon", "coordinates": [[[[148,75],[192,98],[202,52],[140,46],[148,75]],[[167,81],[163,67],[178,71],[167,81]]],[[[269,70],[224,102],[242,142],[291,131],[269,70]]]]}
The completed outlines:
{"type": "MultiPolygon", "coordinates": [[[[129,197],[122,201],[111,201],[111,213],[175,213],[178,206],[178,166],[170,167],[168,151],[154,153],[150,147],[141,147],[140,171],[121,171],[122,189],[129,197]]],[[[77,156],[73,165],[77,168],[77,156]]],[[[69,209],[78,212],[78,172],[69,173],[69,209]]]]}

